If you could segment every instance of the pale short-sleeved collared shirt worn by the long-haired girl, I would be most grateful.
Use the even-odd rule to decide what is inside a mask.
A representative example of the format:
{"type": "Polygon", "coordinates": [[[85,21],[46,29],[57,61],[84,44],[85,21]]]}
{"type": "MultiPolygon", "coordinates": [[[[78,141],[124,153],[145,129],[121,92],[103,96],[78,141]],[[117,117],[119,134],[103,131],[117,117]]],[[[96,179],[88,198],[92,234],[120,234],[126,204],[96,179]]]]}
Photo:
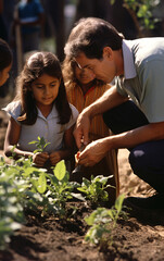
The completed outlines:
{"type": "Polygon", "coordinates": [[[72,109],[72,116],[68,123],[61,125],[59,124],[59,116],[55,105],[53,105],[52,111],[45,117],[40,110],[38,109],[38,117],[35,124],[25,125],[17,122],[17,116],[21,114],[21,103],[20,101],[13,101],[9,103],[3,110],[12,116],[18,125],[21,125],[21,135],[17,142],[17,147],[21,150],[34,151],[36,145],[29,145],[28,142],[37,140],[38,136],[43,137],[47,142],[50,142],[45,149],[45,151],[51,153],[54,150],[60,150],[63,147],[63,136],[64,132],[73,126],[78,116],[77,109],[70,104],[72,109]]]}

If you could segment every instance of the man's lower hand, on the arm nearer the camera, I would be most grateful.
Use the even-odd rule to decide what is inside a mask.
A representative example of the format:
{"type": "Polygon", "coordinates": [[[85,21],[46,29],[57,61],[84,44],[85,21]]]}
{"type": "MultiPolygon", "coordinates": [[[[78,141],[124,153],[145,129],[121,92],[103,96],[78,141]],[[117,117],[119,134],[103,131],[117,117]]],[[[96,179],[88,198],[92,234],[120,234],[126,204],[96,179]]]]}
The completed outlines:
{"type": "Polygon", "coordinates": [[[79,154],[78,164],[92,166],[105,157],[108,150],[105,139],[92,141],[79,154]]]}

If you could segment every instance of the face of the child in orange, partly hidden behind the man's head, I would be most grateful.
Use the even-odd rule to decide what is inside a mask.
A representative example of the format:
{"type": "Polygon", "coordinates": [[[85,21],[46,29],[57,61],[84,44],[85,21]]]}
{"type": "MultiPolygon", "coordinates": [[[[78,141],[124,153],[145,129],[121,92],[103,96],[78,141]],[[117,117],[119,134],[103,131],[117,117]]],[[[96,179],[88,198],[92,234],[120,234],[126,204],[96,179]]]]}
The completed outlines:
{"type": "Polygon", "coordinates": [[[89,69],[79,69],[78,65],[75,65],[75,77],[80,84],[86,85],[92,82],[96,75],[89,69]]]}

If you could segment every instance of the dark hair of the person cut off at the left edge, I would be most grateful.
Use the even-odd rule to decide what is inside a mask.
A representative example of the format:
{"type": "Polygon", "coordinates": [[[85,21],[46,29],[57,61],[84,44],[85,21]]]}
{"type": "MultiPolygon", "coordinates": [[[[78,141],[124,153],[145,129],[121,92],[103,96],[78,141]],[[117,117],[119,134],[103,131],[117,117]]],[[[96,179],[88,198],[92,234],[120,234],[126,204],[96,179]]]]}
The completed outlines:
{"type": "Polygon", "coordinates": [[[12,51],[3,39],[0,38],[0,71],[8,67],[13,61],[12,51]]]}

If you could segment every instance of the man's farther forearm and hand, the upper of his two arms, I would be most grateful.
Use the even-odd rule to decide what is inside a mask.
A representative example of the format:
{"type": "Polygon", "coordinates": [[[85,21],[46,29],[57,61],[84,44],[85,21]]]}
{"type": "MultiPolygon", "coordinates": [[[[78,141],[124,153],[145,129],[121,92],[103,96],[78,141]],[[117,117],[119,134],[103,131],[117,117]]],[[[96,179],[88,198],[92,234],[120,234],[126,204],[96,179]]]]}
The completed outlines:
{"type": "Polygon", "coordinates": [[[76,129],[74,130],[77,147],[80,147],[81,140],[85,145],[89,142],[88,134],[90,121],[93,116],[102,114],[127,100],[128,98],[121,96],[114,86],[106,90],[97,101],[84,109],[77,119],[76,129]]]}

